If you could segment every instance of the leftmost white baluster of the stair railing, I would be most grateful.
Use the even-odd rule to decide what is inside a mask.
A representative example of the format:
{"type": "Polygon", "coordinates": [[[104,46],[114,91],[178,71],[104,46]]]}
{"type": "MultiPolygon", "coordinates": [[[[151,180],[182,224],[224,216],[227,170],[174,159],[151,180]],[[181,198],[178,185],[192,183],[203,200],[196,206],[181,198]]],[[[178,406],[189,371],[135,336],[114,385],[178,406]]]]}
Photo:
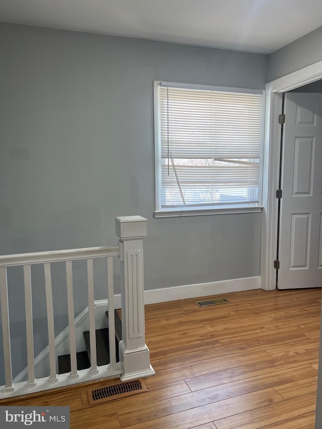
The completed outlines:
{"type": "Polygon", "coordinates": [[[4,392],[12,392],[14,391],[14,386],[12,383],[7,268],[0,268],[0,301],[6,376],[4,392]]]}

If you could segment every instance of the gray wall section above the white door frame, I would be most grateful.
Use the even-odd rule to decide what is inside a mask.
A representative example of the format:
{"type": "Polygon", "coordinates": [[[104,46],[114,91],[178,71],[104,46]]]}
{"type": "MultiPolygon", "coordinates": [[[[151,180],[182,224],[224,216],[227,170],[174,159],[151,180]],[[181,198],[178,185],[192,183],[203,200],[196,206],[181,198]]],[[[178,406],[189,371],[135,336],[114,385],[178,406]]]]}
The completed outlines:
{"type": "Polygon", "coordinates": [[[269,55],[268,81],[322,60],[322,27],[269,55]]]}

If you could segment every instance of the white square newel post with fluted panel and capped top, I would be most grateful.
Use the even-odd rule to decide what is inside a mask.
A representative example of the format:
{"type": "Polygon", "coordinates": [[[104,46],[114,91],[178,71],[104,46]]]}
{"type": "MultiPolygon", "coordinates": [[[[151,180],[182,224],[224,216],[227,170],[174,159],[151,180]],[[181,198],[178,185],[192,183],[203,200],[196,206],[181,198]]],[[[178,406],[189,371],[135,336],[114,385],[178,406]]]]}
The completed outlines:
{"type": "Polygon", "coordinates": [[[141,216],[115,218],[120,238],[122,340],[119,344],[121,380],[153,375],[150,352],[145,344],[143,238],[147,220],[141,216]]]}

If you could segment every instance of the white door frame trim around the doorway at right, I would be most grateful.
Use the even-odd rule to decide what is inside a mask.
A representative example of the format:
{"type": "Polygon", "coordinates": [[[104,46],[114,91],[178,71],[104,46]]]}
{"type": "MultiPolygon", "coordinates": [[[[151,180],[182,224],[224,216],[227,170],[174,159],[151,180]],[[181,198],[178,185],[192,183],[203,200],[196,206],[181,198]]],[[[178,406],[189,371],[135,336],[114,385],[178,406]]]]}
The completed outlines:
{"type": "Polygon", "coordinates": [[[261,288],[274,290],[274,260],[277,246],[277,208],[275,196],[280,169],[282,94],[322,78],[322,61],[301,68],[265,85],[266,114],[264,136],[263,211],[261,232],[261,288]]]}

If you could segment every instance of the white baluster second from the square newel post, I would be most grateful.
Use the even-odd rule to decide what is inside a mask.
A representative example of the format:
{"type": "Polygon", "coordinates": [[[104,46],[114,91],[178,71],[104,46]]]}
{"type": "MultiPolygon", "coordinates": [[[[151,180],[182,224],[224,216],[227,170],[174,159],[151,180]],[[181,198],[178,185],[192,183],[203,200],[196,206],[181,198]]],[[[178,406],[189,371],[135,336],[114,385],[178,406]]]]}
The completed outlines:
{"type": "Polygon", "coordinates": [[[89,293],[89,319],[90,319],[90,349],[91,349],[91,373],[97,374],[96,357],[96,331],[95,331],[95,303],[94,303],[94,270],[93,259],[87,260],[87,283],[89,293]]]}

